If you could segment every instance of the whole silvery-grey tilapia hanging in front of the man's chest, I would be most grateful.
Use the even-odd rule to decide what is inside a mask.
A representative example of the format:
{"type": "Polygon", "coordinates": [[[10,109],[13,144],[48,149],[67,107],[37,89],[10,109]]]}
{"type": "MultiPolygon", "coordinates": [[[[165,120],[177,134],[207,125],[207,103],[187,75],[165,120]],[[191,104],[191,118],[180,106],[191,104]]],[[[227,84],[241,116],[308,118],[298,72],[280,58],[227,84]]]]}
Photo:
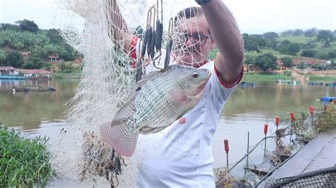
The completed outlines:
{"type": "Polygon", "coordinates": [[[161,131],[193,108],[211,76],[208,69],[172,65],[144,76],[112,122],[99,129],[119,154],[133,154],[138,134],[161,131]]]}

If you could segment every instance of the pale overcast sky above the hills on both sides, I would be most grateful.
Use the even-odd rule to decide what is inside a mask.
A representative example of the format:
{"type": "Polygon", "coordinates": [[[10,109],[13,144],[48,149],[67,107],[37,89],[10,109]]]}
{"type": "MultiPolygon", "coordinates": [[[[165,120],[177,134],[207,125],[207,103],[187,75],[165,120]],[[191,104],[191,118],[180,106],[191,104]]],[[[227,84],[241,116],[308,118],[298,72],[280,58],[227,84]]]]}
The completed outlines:
{"type": "MultiPolygon", "coordinates": [[[[53,0],[0,0],[0,23],[33,20],[41,29],[52,24],[53,0]]],[[[169,1],[169,0],[168,0],[169,1]]],[[[183,0],[181,0],[183,1],[183,0]]],[[[225,0],[241,33],[289,29],[336,30],[335,0],[225,0]]]]}

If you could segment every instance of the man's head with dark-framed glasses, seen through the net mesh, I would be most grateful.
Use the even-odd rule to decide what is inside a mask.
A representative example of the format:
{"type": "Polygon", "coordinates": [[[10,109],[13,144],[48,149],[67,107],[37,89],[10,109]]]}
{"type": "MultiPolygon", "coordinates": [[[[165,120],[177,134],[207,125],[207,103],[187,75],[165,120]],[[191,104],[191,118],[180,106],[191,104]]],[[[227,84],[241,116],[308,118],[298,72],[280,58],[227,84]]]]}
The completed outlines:
{"type": "Polygon", "coordinates": [[[175,30],[177,37],[174,37],[174,54],[178,63],[194,67],[203,65],[215,42],[202,9],[190,7],[177,13],[175,30]]]}

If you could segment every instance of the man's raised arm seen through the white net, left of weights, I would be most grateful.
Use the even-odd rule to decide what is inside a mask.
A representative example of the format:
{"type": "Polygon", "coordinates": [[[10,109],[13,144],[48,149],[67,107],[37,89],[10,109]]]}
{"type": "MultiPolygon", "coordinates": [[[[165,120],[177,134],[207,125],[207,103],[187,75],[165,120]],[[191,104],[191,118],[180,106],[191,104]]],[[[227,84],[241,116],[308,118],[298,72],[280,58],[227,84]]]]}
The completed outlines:
{"type": "Polygon", "coordinates": [[[128,32],[127,25],[121,16],[116,0],[110,1],[109,10],[108,20],[111,21],[111,33],[109,33],[109,37],[114,44],[118,45],[118,47],[121,47],[124,52],[128,53],[131,50],[130,42],[133,35],[130,35],[128,32]]]}

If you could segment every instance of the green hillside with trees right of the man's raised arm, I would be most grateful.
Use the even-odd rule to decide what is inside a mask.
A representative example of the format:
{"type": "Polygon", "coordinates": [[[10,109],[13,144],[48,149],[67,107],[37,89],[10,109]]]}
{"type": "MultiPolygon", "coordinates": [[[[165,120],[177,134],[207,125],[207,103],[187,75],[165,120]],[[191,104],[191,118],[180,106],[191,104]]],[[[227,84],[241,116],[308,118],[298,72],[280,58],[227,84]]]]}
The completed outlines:
{"type": "MultiPolygon", "coordinates": [[[[263,54],[274,55],[277,59],[286,61],[285,66],[292,66],[288,58],[309,57],[313,59],[332,60],[336,58],[335,31],[318,30],[287,30],[283,33],[268,32],[262,35],[242,34],[245,43],[245,64],[258,66],[263,71],[271,68],[269,59],[262,58],[263,54]],[[258,57],[258,58],[257,58],[258,57]],[[284,59],[286,58],[286,59],[284,59]]],[[[303,60],[304,61],[304,60],[303,60]]],[[[306,67],[304,64],[301,68],[306,67]]],[[[336,66],[327,66],[322,69],[335,69],[336,66]]],[[[272,68],[274,69],[274,68],[272,68]]],[[[313,68],[315,69],[315,68],[313,68]]]]}

